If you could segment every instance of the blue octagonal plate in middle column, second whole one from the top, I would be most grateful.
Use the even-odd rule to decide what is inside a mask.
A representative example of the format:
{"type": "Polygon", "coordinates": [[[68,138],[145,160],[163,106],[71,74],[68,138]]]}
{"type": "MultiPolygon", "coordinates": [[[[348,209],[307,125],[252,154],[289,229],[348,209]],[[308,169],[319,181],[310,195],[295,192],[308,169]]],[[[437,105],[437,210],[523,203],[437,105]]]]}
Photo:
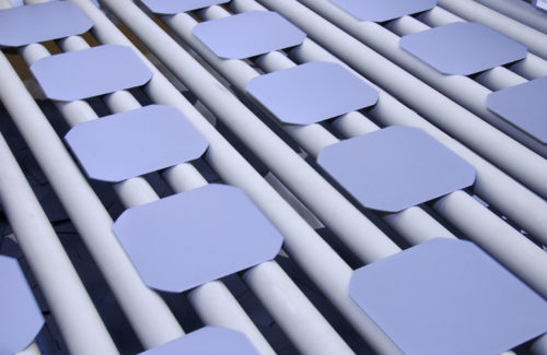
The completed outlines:
{"type": "Polygon", "coordinates": [[[344,67],[310,62],[253,79],[247,92],[286,123],[311,125],[372,106],[377,92],[344,67]]]}

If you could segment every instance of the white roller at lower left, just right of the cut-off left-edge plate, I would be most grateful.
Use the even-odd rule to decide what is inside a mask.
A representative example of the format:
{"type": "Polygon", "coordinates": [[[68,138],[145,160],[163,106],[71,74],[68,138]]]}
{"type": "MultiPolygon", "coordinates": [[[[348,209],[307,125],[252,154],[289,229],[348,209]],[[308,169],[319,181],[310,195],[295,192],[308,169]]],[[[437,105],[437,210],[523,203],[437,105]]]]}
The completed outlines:
{"type": "Polygon", "coordinates": [[[67,347],[73,354],[117,354],[93,301],[1,135],[0,166],[3,212],[67,347]]]}

